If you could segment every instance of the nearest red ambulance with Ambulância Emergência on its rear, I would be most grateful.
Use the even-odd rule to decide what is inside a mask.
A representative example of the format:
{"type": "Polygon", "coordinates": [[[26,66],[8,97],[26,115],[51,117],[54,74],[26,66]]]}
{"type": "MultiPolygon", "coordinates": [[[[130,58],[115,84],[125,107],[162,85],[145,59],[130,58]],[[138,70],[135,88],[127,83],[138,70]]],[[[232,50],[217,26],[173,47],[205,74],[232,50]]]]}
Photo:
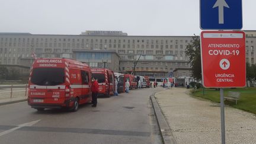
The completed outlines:
{"type": "Polygon", "coordinates": [[[36,59],[28,81],[28,105],[39,111],[62,108],[77,111],[92,100],[91,68],[71,59],[36,59]]]}

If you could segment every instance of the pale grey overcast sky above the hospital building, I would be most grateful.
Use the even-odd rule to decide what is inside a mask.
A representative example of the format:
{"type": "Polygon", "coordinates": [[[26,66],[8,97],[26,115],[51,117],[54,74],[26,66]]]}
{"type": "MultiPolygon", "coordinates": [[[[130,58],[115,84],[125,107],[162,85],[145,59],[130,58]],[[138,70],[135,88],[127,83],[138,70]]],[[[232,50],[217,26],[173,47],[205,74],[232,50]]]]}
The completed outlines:
{"type": "MultiPolygon", "coordinates": [[[[113,30],[129,36],[191,36],[201,31],[199,0],[0,0],[0,4],[2,33],[113,30]]],[[[256,30],[255,8],[255,0],[243,1],[243,30],[256,30]]]]}

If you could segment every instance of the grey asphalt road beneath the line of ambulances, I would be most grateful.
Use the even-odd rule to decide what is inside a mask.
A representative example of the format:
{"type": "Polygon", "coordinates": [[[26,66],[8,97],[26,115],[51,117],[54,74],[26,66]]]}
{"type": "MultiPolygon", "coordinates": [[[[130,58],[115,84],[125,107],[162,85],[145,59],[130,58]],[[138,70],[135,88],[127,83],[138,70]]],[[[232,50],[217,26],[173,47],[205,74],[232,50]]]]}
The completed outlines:
{"type": "MultiPolygon", "coordinates": [[[[159,89],[158,89],[159,90],[159,89]]],[[[76,112],[39,112],[26,102],[0,106],[0,143],[161,143],[149,95],[136,89],[98,98],[76,112]]]]}

